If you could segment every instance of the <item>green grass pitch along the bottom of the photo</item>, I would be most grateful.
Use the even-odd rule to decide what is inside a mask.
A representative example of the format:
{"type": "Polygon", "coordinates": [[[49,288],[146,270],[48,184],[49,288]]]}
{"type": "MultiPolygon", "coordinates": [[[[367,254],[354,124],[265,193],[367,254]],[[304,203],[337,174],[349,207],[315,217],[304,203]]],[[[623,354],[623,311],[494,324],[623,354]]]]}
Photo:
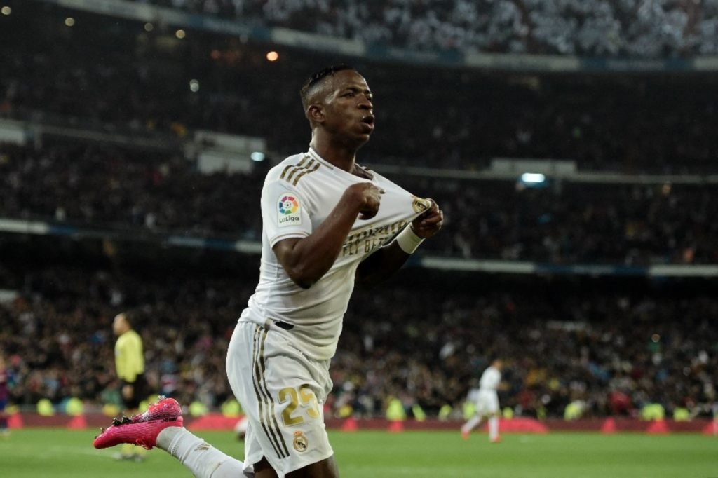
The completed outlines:
{"type": "MultiPolygon", "coordinates": [[[[115,461],[116,449],[95,450],[93,431],[15,430],[0,439],[0,477],[191,477],[163,451],[142,463],[115,461]]],[[[241,442],[228,432],[202,438],[233,456],[241,442]]],[[[699,434],[506,434],[464,441],[458,432],[332,432],[342,478],[459,477],[718,477],[718,437],[699,434]]]]}

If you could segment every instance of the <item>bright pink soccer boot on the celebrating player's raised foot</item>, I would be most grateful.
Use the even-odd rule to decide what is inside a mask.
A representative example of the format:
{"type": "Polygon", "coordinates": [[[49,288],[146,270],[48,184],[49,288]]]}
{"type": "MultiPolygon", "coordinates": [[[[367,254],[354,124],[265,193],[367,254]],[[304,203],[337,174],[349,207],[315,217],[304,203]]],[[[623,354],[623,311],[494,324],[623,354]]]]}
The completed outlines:
{"type": "Polygon", "coordinates": [[[160,431],[168,426],[182,426],[183,423],[182,408],[177,400],[160,396],[157,403],[152,403],[145,413],[129,418],[115,418],[111,427],[101,428],[93,445],[96,449],[103,449],[129,443],[151,450],[157,444],[160,431]]]}

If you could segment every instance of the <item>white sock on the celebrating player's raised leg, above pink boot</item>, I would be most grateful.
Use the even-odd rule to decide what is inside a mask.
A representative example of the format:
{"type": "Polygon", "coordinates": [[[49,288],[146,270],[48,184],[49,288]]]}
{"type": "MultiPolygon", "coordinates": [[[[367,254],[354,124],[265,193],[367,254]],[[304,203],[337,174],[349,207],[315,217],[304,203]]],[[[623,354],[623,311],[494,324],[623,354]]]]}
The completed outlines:
{"type": "MultiPolygon", "coordinates": [[[[181,426],[168,426],[157,435],[157,446],[167,451],[197,478],[238,478],[244,464],[211,446],[181,426]]],[[[250,474],[248,476],[253,476],[250,474]]]]}

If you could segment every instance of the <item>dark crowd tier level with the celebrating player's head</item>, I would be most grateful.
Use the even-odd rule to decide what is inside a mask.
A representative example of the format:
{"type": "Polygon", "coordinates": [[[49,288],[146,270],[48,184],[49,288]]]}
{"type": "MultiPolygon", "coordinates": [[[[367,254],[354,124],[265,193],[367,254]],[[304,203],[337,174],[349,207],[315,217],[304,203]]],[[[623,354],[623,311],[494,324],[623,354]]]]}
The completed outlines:
{"type": "MultiPolygon", "coordinates": [[[[234,37],[177,39],[105,17],[68,28],[19,10],[4,19],[0,117],[37,123],[176,141],[208,129],[266,139],[275,156],[288,156],[309,142],[299,85],[340,61],[287,50],[268,62],[266,46],[234,37]]],[[[710,74],[537,76],[359,61],[377,117],[365,162],[484,169],[519,157],[572,159],[584,170],[715,172],[710,74]]]]}

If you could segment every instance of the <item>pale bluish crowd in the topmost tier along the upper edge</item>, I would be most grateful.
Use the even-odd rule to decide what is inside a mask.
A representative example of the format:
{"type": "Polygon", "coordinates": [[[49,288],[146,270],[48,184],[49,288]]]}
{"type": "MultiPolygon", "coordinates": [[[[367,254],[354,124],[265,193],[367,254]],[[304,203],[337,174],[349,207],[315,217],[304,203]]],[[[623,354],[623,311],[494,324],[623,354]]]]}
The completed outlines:
{"type": "Polygon", "coordinates": [[[413,50],[599,57],[718,52],[714,0],[136,0],[413,50]]]}

